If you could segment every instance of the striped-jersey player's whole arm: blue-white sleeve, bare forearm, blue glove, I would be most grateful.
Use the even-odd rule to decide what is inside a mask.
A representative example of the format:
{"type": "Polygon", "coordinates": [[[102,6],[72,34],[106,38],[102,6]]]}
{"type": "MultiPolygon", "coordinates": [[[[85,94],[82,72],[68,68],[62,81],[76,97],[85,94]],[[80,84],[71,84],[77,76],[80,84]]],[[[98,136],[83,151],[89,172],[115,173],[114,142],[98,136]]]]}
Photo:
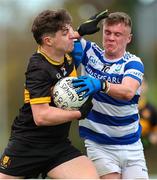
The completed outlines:
{"type": "Polygon", "coordinates": [[[73,80],[77,93],[84,93],[84,97],[102,91],[113,98],[131,100],[140,87],[143,79],[144,66],[139,61],[131,61],[125,67],[122,82],[120,84],[110,83],[106,80],[96,79],[90,76],[80,76],[73,80]]]}

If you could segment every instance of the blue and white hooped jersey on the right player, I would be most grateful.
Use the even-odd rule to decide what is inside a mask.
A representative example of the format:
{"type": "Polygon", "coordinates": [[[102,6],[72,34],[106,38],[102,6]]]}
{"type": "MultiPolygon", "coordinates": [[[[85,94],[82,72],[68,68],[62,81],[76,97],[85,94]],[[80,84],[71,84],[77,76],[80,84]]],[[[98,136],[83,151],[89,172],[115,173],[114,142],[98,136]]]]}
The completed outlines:
{"type": "MultiPolygon", "coordinates": [[[[141,84],[144,65],[140,58],[125,52],[115,60],[105,58],[105,52],[95,43],[81,39],[84,50],[81,75],[89,75],[120,84],[126,76],[141,84]]],[[[118,100],[99,92],[93,96],[93,109],[88,117],[79,122],[80,136],[100,144],[127,145],[137,142],[141,136],[138,100],[140,88],[130,100],[118,100]]]]}

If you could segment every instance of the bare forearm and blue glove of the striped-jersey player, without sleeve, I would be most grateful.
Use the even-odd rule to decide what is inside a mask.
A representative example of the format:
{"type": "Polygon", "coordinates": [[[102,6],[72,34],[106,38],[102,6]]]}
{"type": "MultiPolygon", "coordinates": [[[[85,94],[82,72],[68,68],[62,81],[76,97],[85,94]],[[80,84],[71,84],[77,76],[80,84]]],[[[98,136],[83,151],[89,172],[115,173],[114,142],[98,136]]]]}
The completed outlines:
{"type": "Polygon", "coordinates": [[[84,97],[93,95],[99,91],[109,94],[113,98],[130,100],[135,95],[140,83],[131,78],[125,77],[121,84],[109,83],[89,76],[80,76],[73,80],[74,87],[78,88],[77,93],[84,93],[84,97]]]}

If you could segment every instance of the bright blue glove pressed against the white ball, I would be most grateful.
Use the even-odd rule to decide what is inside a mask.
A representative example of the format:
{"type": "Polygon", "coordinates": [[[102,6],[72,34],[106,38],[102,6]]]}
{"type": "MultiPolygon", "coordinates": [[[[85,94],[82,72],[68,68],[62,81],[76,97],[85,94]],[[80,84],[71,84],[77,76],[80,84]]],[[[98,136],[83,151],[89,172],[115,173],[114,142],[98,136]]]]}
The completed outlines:
{"type": "Polygon", "coordinates": [[[80,76],[77,79],[72,80],[72,83],[75,88],[79,88],[77,93],[81,94],[83,92],[83,97],[85,98],[102,90],[103,82],[89,76],[80,76]]]}

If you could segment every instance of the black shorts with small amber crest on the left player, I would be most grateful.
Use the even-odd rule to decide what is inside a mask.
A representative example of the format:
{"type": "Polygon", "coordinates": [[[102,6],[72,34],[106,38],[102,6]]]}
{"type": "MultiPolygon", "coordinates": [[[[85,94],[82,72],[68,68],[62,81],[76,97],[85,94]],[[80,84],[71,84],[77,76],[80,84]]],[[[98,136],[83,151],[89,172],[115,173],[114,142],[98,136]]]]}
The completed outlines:
{"type": "Polygon", "coordinates": [[[46,177],[54,167],[81,156],[81,152],[67,139],[57,144],[9,141],[2,154],[0,172],[23,178],[46,177]]]}

